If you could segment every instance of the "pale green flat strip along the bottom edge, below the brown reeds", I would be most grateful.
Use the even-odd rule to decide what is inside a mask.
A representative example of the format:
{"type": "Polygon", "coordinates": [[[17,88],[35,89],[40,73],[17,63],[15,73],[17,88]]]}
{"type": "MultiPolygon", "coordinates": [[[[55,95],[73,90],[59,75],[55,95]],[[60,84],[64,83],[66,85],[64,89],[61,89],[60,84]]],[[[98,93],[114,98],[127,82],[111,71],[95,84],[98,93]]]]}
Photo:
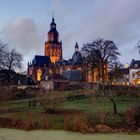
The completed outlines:
{"type": "Polygon", "coordinates": [[[0,140],[139,140],[140,135],[130,134],[81,134],[67,131],[0,129],[0,140]]]}

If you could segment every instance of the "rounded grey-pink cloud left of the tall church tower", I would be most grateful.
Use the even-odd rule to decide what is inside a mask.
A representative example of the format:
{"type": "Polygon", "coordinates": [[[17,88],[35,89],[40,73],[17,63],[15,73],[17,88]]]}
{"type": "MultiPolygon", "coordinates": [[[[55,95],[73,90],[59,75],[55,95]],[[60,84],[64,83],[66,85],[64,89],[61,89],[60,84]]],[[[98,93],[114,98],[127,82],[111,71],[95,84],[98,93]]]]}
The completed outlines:
{"type": "Polygon", "coordinates": [[[3,38],[24,56],[35,52],[42,43],[39,25],[27,17],[8,22],[3,30],[3,38]]]}

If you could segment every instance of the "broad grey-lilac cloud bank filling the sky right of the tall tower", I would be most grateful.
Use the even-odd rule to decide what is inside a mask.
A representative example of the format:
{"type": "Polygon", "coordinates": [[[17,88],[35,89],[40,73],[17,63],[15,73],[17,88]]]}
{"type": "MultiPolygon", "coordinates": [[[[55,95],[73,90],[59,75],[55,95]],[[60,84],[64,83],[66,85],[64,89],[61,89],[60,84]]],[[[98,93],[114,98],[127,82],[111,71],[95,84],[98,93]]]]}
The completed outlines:
{"type": "MultiPolygon", "coordinates": [[[[98,37],[113,40],[121,51],[121,60],[131,61],[131,58],[138,59],[137,51],[134,46],[140,39],[140,1],[139,0],[100,0],[88,1],[74,7],[75,1],[70,5],[64,5],[62,0],[55,0],[61,11],[59,14],[64,16],[67,28],[62,30],[66,57],[72,55],[74,42],[90,42],[98,37]],[[67,8],[65,8],[67,7],[67,8]],[[72,9],[71,11],[68,9],[72,9]],[[68,22],[66,22],[68,20],[68,22]],[[132,57],[126,57],[127,52],[133,51],[132,57]],[[71,52],[71,53],[67,53],[71,52]]],[[[57,6],[57,5],[56,5],[57,6]]],[[[64,24],[64,23],[63,23],[64,24]]],[[[61,25],[60,25],[61,26],[61,25]]],[[[131,54],[131,53],[130,53],[131,54]]]]}

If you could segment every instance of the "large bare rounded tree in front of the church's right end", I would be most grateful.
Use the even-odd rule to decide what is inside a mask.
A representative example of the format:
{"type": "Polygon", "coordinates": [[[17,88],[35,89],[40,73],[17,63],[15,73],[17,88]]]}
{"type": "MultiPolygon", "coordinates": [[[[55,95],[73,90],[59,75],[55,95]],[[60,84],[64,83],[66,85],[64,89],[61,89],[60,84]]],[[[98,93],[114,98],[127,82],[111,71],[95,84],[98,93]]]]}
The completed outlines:
{"type": "Polygon", "coordinates": [[[105,65],[113,67],[120,55],[116,44],[113,41],[99,38],[91,43],[84,44],[81,51],[91,68],[98,68],[101,82],[104,84],[105,65]]]}

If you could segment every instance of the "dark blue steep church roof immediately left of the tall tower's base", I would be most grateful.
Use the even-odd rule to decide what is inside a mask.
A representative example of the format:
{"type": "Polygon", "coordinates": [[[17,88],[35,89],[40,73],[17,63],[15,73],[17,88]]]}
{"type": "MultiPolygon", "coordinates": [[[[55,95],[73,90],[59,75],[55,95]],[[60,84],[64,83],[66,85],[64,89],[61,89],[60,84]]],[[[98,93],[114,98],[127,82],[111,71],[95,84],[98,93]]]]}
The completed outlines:
{"type": "Polygon", "coordinates": [[[51,63],[49,56],[41,56],[41,55],[35,55],[33,60],[33,65],[35,66],[44,66],[48,67],[51,63]]]}

